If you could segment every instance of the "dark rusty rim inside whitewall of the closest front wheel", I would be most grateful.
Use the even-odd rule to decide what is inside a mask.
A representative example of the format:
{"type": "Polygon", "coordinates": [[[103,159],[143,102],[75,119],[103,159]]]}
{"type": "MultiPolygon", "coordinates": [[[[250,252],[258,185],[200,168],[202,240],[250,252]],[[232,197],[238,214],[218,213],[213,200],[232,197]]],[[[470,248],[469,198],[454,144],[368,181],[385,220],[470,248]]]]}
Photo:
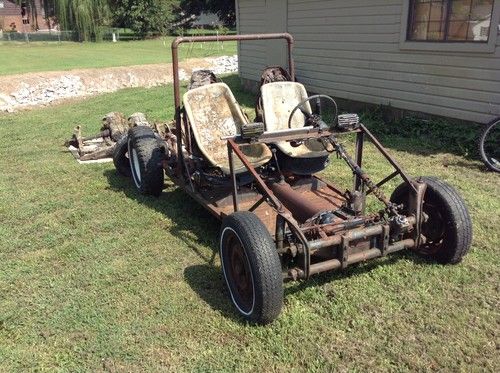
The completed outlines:
{"type": "Polygon", "coordinates": [[[231,298],[241,313],[249,315],[255,304],[255,289],[250,262],[243,244],[234,230],[226,228],[221,241],[222,268],[231,298]]]}

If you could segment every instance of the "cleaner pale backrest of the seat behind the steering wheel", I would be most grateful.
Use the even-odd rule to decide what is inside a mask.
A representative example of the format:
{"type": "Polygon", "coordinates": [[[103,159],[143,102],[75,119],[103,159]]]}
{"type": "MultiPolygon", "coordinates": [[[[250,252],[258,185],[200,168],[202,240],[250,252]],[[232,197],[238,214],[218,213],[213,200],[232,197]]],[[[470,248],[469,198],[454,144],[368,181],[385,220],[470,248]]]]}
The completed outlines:
{"type": "MultiPolygon", "coordinates": [[[[262,107],[264,109],[264,124],[267,131],[284,130],[288,128],[288,119],[295,106],[304,101],[307,96],[306,88],[297,82],[273,82],[264,84],[260,88],[262,107]]],[[[309,102],[304,109],[311,113],[309,102]]],[[[291,128],[304,126],[304,114],[297,110],[293,115],[291,128]]]]}

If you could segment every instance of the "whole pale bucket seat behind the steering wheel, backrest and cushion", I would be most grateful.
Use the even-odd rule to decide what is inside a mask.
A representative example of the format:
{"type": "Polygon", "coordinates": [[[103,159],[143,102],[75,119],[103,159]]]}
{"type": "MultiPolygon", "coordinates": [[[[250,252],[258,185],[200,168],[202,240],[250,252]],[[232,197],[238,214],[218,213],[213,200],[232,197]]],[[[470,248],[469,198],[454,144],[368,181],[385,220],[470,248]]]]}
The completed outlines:
{"type": "MultiPolygon", "coordinates": [[[[261,87],[262,107],[264,108],[264,123],[267,131],[284,130],[288,128],[288,120],[292,110],[298,103],[307,99],[305,87],[297,82],[273,82],[261,87]]],[[[304,104],[304,109],[312,113],[309,102],[304,104]]],[[[291,128],[304,126],[304,114],[297,110],[291,121],[291,128]]],[[[293,158],[325,157],[328,152],[317,140],[307,140],[299,146],[292,146],[289,142],[276,143],[286,155],[293,158]]]]}

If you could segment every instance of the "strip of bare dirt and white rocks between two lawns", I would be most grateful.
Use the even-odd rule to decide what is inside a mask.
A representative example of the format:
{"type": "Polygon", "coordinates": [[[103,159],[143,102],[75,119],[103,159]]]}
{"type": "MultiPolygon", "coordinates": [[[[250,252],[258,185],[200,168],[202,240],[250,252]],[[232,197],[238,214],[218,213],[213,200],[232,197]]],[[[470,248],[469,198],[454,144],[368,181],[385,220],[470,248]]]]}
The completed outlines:
{"type": "MultiPolygon", "coordinates": [[[[193,70],[217,73],[237,70],[235,57],[200,58],[180,63],[180,77],[193,70]]],[[[131,87],[154,87],[172,82],[172,64],[77,69],[0,76],[0,112],[48,105],[64,99],[114,92],[131,87]]]]}

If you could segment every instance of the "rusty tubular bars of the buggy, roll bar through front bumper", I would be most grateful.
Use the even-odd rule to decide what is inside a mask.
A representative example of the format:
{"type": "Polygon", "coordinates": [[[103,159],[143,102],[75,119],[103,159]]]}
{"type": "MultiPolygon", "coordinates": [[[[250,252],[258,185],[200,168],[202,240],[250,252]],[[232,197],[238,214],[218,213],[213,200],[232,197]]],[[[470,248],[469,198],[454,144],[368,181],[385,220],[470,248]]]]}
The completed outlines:
{"type": "MultiPolygon", "coordinates": [[[[183,133],[185,136],[189,136],[189,128],[185,128],[183,131],[183,124],[189,127],[189,124],[183,123],[183,113],[181,107],[181,94],[180,94],[180,78],[179,78],[179,54],[178,47],[182,43],[192,43],[192,42],[215,42],[215,41],[244,41],[244,40],[272,40],[272,39],[284,39],[287,41],[288,45],[288,65],[290,75],[293,80],[295,80],[295,70],[292,59],[292,50],[294,45],[293,37],[288,33],[275,33],[275,34],[249,34],[249,35],[232,35],[232,36],[201,36],[201,37],[178,37],[172,42],[172,66],[173,66],[173,85],[174,85],[174,102],[175,102],[175,122],[176,122],[176,137],[177,137],[177,168],[172,176],[177,176],[174,182],[180,186],[184,186],[184,189],[193,198],[202,204],[206,205],[206,202],[201,196],[194,190],[192,184],[191,189],[186,188],[186,177],[185,171],[187,167],[183,157],[183,148],[186,146],[186,150],[191,152],[190,139],[183,139],[183,133]]],[[[344,133],[356,133],[356,154],[355,163],[361,167],[363,159],[363,144],[365,138],[368,138],[375,147],[382,153],[386,160],[394,167],[396,170],[391,175],[387,176],[378,186],[381,186],[393,177],[400,175],[403,180],[410,186],[412,190],[412,210],[415,212],[415,216],[409,216],[408,222],[412,225],[418,225],[420,222],[421,211],[418,209],[419,203],[422,201],[422,196],[425,191],[425,186],[419,186],[414,184],[408,175],[401,169],[401,167],[396,163],[396,161],[388,154],[382,144],[371,134],[371,132],[363,125],[360,124],[358,129],[344,132],[344,133]]],[[[317,128],[301,128],[296,130],[289,130],[287,132],[271,132],[264,133],[258,139],[257,142],[260,143],[273,143],[278,141],[290,141],[296,138],[320,138],[333,135],[334,133],[330,131],[323,131],[317,128]]],[[[335,133],[335,135],[341,135],[343,132],[335,133]]],[[[294,234],[300,244],[299,252],[303,255],[303,268],[292,268],[291,273],[294,273],[292,277],[298,277],[302,279],[308,279],[310,275],[323,272],[326,270],[332,270],[337,268],[345,268],[349,264],[357,263],[360,261],[384,256],[388,253],[403,250],[405,248],[416,247],[419,244],[418,237],[418,227],[415,230],[416,234],[414,239],[405,239],[402,241],[389,243],[389,225],[374,225],[363,228],[354,228],[339,234],[334,234],[332,236],[323,237],[317,240],[309,241],[303,229],[300,227],[299,223],[296,221],[291,212],[281,203],[280,199],[276,197],[271,188],[265,183],[261,176],[257,173],[255,168],[250,164],[244,153],[239,148],[240,143],[245,143],[242,139],[227,138],[227,151],[229,158],[229,168],[232,180],[232,197],[233,197],[233,208],[234,211],[239,210],[239,196],[238,196],[238,184],[235,173],[235,155],[240,159],[247,171],[254,177],[257,188],[262,193],[262,198],[260,198],[252,207],[251,211],[255,210],[260,204],[267,203],[277,212],[276,221],[276,245],[278,250],[283,249],[283,240],[286,226],[294,234]],[[378,244],[376,246],[357,253],[348,253],[350,248],[350,243],[356,240],[367,240],[374,239],[378,237],[378,244]],[[336,259],[326,260],[320,263],[311,264],[311,255],[322,248],[331,247],[337,248],[339,251],[339,256],[336,259]]],[[[319,177],[316,176],[317,179],[319,177]]],[[[321,180],[321,179],[319,179],[321,180]]],[[[191,183],[191,180],[189,179],[191,183]]],[[[335,186],[326,183],[329,188],[337,190],[335,186]]],[[[354,180],[354,189],[363,190],[363,181],[361,178],[356,178],[354,180]]],[[[215,216],[220,217],[220,212],[214,208],[207,206],[211,213],[215,216]]],[[[375,241],[372,241],[372,243],[375,241]]]]}

